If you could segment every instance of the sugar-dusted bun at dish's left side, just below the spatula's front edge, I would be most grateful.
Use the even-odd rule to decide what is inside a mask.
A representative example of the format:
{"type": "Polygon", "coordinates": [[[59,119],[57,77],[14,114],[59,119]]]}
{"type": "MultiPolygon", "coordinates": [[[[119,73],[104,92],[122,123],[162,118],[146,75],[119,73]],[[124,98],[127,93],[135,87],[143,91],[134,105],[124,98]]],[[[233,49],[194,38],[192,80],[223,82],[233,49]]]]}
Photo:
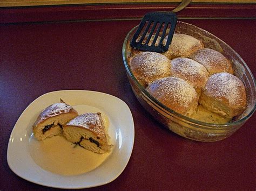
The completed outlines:
{"type": "Polygon", "coordinates": [[[170,75],[170,60],[156,52],[136,54],[130,60],[132,73],[142,86],[170,75]]]}

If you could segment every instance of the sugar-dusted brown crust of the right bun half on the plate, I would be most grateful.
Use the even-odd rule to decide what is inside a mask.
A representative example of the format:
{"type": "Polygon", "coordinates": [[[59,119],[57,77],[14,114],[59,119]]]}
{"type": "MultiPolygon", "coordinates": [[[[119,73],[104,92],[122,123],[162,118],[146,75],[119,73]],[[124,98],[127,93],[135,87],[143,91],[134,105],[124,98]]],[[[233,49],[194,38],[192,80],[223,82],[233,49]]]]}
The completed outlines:
{"type": "Polygon", "coordinates": [[[106,138],[105,126],[102,121],[100,112],[98,113],[85,113],[73,118],[66,126],[77,126],[85,128],[95,133],[99,138],[106,138]]]}

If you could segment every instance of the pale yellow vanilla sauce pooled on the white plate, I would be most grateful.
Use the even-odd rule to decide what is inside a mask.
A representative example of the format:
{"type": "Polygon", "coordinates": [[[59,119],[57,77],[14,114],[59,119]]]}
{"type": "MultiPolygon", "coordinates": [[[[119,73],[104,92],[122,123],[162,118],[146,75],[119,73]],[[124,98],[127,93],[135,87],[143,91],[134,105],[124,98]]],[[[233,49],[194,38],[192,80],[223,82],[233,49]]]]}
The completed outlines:
{"type": "MultiPolygon", "coordinates": [[[[100,112],[106,128],[109,127],[109,119],[98,108],[88,105],[72,106],[78,111],[78,114],[85,112],[100,112]]],[[[97,154],[95,152],[85,150],[79,145],[68,142],[63,135],[46,138],[38,141],[33,134],[29,139],[30,155],[37,165],[60,175],[77,175],[92,171],[101,165],[110,152],[97,154]]]]}

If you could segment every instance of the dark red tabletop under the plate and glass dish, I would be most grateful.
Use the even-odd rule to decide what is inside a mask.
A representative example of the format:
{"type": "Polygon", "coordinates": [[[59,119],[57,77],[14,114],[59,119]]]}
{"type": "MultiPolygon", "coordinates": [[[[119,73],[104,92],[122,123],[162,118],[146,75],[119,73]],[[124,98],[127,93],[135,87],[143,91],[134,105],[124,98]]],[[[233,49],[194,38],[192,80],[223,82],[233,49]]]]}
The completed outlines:
{"type": "MultiPolygon", "coordinates": [[[[255,19],[183,21],[224,40],[255,76],[255,19]]],[[[47,189],[13,173],[6,151],[23,110],[38,96],[65,89],[117,96],[133,115],[135,140],[129,163],[116,180],[90,189],[255,190],[255,115],[230,138],[202,143],[162,128],[139,104],[122,60],[125,36],[138,23],[117,20],[0,26],[0,190],[47,189]]]]}

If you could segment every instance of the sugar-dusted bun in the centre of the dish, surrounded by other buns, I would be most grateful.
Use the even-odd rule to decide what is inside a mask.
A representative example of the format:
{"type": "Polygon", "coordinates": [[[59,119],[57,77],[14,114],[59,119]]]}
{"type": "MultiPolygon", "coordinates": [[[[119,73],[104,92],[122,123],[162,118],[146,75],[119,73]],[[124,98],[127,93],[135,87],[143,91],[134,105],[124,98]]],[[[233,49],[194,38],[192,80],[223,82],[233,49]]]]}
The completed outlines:
{"type": "Polygon", "coordinates": [[[194,60],[176,58],[171,60],[171,76],[179,77],[191,84],[200,96],[209,74],[203,65],[194,60]]]}

